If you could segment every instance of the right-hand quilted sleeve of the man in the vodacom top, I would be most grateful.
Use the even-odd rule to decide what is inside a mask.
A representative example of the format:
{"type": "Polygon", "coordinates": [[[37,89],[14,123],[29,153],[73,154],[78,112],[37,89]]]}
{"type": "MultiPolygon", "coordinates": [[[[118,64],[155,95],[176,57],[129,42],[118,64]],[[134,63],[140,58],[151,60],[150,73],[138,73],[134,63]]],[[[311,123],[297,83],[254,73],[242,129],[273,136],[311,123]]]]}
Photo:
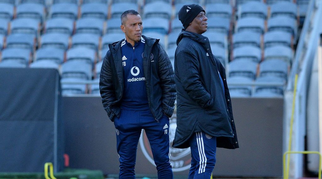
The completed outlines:
{"type": "Polygon", "coordinates": [[[174,72],[165,49],[158,44],[159,58],[158,71],[160,77],[160,86],[162,88],[162,111],[168,117],[171,117],[175,109],[175,79],[174,72]]]}

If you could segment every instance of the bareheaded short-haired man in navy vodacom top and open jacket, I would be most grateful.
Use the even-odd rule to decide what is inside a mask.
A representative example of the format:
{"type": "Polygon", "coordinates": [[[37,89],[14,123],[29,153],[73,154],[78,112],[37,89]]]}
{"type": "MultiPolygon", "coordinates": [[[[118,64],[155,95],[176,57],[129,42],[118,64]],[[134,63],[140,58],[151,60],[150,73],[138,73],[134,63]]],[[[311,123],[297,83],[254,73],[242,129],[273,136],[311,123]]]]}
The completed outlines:
{"type": "Polygon", "coordinates": [[[171,179],[168,126],[176,97],[173,68],[159,39],[142,35],[137,11],[125,11],[121,22],[125,39],[109,44],[99,79],[103,107],[116,129],[119,178],[135,178],[137,144],[144,129],[158,178],[171,179]]]}

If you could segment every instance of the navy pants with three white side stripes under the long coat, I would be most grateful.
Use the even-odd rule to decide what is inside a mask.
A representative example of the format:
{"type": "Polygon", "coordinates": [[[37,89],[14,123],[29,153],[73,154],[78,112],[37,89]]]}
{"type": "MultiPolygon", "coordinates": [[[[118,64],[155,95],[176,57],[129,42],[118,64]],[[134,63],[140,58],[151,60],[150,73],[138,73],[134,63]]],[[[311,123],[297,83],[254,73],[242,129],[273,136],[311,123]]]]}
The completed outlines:
{"type": "Polygon", "coordinates": [[[210,179],[216,163],[216,137],[196,132],[189,140],[191,167],[189,179],[210,179]]]}

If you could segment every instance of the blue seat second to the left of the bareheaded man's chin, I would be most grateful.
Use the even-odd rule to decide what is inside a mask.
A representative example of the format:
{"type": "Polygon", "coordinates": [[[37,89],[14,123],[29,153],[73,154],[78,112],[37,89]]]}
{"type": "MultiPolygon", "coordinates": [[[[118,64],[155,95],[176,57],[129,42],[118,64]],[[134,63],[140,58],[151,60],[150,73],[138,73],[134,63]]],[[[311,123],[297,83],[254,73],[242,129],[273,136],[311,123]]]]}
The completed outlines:
{"type": "Polygon", "coordinates": [[[90,33],[78,33],[71,38],[71,47],[87,47],[98,51],[99,35],[90,33]]]}

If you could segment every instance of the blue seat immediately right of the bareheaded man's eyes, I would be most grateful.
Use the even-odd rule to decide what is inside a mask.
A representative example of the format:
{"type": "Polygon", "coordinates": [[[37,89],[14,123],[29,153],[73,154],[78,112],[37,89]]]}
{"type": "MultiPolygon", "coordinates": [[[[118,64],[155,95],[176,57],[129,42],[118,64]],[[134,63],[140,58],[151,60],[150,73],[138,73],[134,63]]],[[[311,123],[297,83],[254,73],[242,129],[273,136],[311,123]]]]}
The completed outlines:
{"type": "Polygon", "coordinates": [[[165,18],[147,18],[144,19],[144,32],[158,32],[162,34],[168,34],[169,32],[169,20],[165,18]]]}

